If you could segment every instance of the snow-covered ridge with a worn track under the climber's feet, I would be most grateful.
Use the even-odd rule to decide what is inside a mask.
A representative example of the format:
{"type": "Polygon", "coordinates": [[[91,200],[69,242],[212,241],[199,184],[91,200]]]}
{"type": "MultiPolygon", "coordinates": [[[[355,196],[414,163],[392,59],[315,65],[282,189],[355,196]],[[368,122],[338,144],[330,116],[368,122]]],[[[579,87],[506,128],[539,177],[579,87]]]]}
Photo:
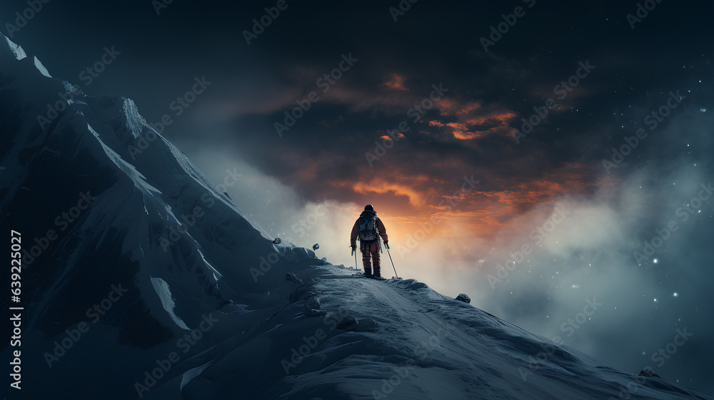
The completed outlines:
{"type": "MultiPolygon", "coordinates": [[[[210,366],[183,386],[184,398],[712,399],[633,376],[412,279],[352,272],[303,270],[316,284],[241,346],[203,354],[196,365],[210,366]]],[[[176,377],[146,398],[177,398],[178,386],[176,377]]]]}

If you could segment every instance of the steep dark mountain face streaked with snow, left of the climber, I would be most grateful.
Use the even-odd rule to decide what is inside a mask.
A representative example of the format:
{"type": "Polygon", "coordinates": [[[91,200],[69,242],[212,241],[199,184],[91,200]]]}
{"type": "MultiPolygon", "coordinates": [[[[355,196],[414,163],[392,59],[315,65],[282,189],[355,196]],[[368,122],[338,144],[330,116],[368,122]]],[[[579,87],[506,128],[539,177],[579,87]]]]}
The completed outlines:
{"type": "Polygon", "coordinates": [[[141,351],[149,362],[221,305],[273,313],[291,293],[288,266],[322,264],[278,252],[130,99],[43,76],[4,38],[0,66],[0,220],[21,233],[26,376],[99,374],[80,361],[128,365],[141,351]],[[91,348],[72,339],[57,357],[81,324],[91,348]]]}

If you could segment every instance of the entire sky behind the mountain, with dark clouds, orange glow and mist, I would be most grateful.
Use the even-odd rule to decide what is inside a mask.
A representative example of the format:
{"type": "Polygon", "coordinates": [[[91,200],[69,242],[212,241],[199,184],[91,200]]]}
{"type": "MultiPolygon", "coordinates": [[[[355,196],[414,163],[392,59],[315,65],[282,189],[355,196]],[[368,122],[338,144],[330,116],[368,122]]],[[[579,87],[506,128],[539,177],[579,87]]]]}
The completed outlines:
{"type": "Polygon", "coordinates": [[[714,393],[711,1],[30,3],[268,236],[353,266],[373,204],[399,276],[714,393]]]}

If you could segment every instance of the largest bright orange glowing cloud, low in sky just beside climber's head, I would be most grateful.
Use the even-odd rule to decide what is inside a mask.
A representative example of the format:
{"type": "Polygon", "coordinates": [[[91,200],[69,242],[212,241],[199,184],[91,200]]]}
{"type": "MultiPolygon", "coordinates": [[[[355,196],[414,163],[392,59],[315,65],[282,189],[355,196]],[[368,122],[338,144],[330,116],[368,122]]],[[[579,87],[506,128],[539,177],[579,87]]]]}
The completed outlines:
{"type": "MultiPolygon", "coordinates": [[[[443,129],[466,129],[460,123],[441,124],[443,129]]],[[[421,164],[416,154],[411,159],[399,159],[397,153],[389,157],[397,162],[380,164],[378,169],[357,166],[358,178],[348,180],[333,176],[330,157],[301,159],[303,171],[294,177],[344,201],[373,204],[394,243],[428,224],[433,225],[430,237],[440,240],[473,236],[488,241],[520,234],[531,228],[518,221],[543,210],[540,206],[555,206],[560,199],[585,196],[608,184],[595,179],[591,166],[579,163],[503,176],[493,171],[502,166],[478,167],[464,159],[428,159],[428,164],[421,164]],[[480,182],[464,186],[466,176],[480,182]]],[[[536,165],[536,159],[534,154],[533,159],[519,162],[527,168],[536,165]]]]}

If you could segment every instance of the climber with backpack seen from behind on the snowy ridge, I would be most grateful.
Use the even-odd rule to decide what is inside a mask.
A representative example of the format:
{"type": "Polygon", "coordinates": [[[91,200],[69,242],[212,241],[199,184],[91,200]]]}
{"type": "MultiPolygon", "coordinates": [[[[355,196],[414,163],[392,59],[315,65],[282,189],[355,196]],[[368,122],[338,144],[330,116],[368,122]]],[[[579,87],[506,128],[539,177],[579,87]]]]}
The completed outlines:
{"type": "Polygon", "coordinates": [[[387,230],[378,218],[376,211],[371,204],[364,206],[364,211],[360,214],[352,227],[350,236],[350,246],[354,253],[357,248],[357,238],[359,238],[359,249],[362,253],[362,264],[364,265],[364,276],[366,278],[381,278],[379,271],[379,251],[381,244],[379,238],[387,244],[387,230]],[[370,256],[374,264],[374,269],[370,265],[370,256]]]}

